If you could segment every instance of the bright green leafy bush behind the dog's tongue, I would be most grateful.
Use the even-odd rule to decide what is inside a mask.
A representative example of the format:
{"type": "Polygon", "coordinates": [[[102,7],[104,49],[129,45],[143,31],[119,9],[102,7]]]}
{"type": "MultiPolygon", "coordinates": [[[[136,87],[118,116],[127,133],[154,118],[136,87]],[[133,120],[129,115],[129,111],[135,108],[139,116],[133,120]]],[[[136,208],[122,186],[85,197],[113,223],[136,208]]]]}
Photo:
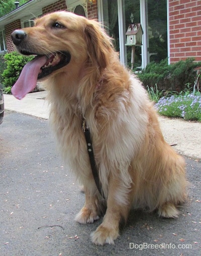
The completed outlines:
{"type": "Polygon", "coordinates": [[[6,69],[4,70],[3,85],[6,93],[10,92],[11,87],[18,80],[25,64],[33,59],[33,56],[22,56],[16,52],[8,53],[4,56],[6,69]]]}

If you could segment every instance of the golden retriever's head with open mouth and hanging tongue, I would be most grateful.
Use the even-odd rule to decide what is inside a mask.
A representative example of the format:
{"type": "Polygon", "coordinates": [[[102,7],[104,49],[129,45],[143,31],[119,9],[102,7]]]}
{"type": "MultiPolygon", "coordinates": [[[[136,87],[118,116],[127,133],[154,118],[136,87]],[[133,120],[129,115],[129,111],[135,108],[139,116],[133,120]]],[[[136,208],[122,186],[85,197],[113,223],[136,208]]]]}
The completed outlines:
{"type": "MultiPolygon", "coordinates": [[[[30,89],[36,86],[37,79],[70,72],[70,68],[104,69],[112,50],[111,39],[97,22],[65,11],[36,19],[34,27],[15,30],[12,39],[21,54],[37,55],[22,72],[21,80],[26,78],[23,73],[27,76],[29,70],[32,78],[34,76],[33,79],[28,76],[30,89]]],[[[24,94],[27,91],[28,88],[24,89],[24,94]]],[[[15,95],[15,88],[13,93],[15,95]]]]}

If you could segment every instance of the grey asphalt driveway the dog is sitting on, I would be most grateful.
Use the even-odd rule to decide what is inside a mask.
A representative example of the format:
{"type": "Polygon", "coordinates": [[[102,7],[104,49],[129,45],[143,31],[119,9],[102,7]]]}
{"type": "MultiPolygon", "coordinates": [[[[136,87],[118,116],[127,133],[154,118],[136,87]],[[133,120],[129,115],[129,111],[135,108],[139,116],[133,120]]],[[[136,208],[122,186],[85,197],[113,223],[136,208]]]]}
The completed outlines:
{"type": "Polygon", "coordinates": [[[90,233],[102,219],[74,221],[84,194],[56,151],[48,121],[6,112],[0,126],[0,254],[200,255],[201,163],[185,160],[191,185],[178,219],[133,210],[114,246],[96,246],[90,233]]]}

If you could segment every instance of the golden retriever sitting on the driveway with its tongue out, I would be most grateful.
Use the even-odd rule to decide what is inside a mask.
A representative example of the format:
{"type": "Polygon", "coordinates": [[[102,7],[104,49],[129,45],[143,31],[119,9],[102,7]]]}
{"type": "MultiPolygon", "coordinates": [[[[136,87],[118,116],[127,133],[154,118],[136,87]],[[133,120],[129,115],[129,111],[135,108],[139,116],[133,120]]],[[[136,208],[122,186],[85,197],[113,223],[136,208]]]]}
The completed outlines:
{"type": "Polygon", "coordinates": [[[185,164],[161,133],[156,111],[141,82],[120,64],[111,38],[93,20],[70,12],[36,19],[16,30],[13,42],[24,55],[37,55],[12,88],[21,99],[45,80],[50,123],[66,164],[83,185],[85,203],[76,216],[92,223],[106,213],[92,242],[113,244],[131,207],[175,218],[185,200],[185,164]],[[89,127],[105,199],[95,185],[82,121],[89,127]]]}

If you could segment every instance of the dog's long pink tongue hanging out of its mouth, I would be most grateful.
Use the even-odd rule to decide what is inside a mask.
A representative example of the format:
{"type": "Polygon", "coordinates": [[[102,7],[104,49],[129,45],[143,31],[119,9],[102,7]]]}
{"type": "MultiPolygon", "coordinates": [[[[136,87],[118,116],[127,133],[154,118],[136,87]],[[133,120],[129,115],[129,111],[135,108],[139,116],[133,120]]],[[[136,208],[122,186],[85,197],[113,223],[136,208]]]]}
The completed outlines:
{"type": "Polygon", "coordinates": [[[46,56],[36,57],[34,60],[32,60],[31,62],[28,62],[24,66],[20,74],[20,77],[18,78],[17,82],[14,84],[14,86],[11,89],[12,94],[16,98],[18,99],[24,98],[24,96],[28,92],[32,91],[36,87],[40,68],[43,67],[46,62],[47,62],[46,56]]]}

